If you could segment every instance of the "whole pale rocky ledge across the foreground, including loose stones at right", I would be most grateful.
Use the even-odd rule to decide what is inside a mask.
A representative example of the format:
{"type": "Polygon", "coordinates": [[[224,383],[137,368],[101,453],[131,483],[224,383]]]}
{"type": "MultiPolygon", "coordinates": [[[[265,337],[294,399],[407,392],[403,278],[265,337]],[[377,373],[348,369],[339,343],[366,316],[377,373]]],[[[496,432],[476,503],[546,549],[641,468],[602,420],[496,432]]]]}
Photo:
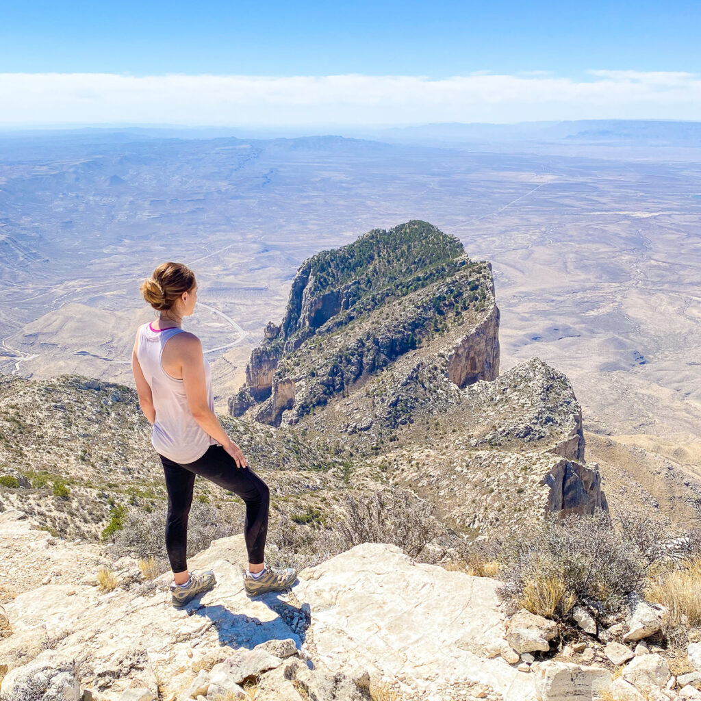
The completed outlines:
{"type": "MultiPolygon", "coordinates": [[[[3,548],[7,533],[59,547],[18,511],[0,514],[3,548]]],[[[74,581],[18,594],[0,608],[0,698],[220,701],[250,699],[252,688],[258,701],[362,701],[390,690],[409,701],[701,697],[701,671],[675,679],[664,651],[641,642],[659,624],[641,601],[599,631],[601,643],[560,649],[554,622],[505,614],[496,580],[421,564],[394,545],[358,545],[300,571],[290,592],[254,598],[243,590],[245,560],[243,536],[192,558],[217,585],[183,610],[170,604],[170,573],[143,580],[129,558],[109,592],[76,571],[74,581]]],[[[698,648],[688,660],[701,670],[698,648]]]]}

